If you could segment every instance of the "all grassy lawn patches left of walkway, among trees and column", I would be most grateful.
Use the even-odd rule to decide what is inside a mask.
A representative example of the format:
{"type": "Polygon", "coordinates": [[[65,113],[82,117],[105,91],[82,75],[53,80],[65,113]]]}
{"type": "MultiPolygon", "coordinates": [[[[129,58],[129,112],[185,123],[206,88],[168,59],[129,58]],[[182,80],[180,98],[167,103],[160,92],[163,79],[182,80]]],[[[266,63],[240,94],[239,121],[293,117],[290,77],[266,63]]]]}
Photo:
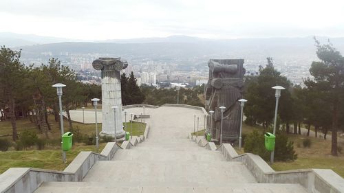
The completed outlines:
{"type": "MultiPolygon", "coordinates": [[[[72,146],[72,150],[67,152],[67,163],[63,163],[61,160],[61,131],[58,128],[58,123],[54,122],[54,117],[50,116],[50,125],[52,130],[49,132],[50,139],[47,139],[47,144],[44,150],[36,150],[36,146],[28,148],[28,150],[15,151],[14,147],[11,147],[6,152],[0,152],[0,173],[5,172],[8,168],[12,167],[24,167],[24,168],[43,168],[49,170],[64,170],[68,164],[78,155],[80,151],[94,151],[96,152],[96,146],[86,146],[83,143],[75,143],[72,146]]],[[[124,123],[125,128],[131,131],[131,124],[124,123]]],[[[68,131],[68,123],[64,121],[65,131],[68,131]]],[[[73,122],[74,130],[79,130],[80,135],[89,135],[92,137],[96,132],[95,124],[82,124],[73,122]]],[[[101,124],[98,125],[101,128],[101,124]]],[[[145,124],[133,123],[133,135],[143,135],[145,124]]],[[[45,139],[45,135],[40,133],[36,126],[30,122],[28,118],[17,121],[17,130],[23,133],[24,130],[30,130],[37,133],[39,138],[45,139]]],[[[0,122],[0,135],[8,135],[12,133],[12,126],[10,121],[0,122]]],[[[76,136],[74,136],[76,137],[76,136]]],[[[1,137],[1,139],[12,139],[12,136],[1,137]]],[[[74,140],[75,141],[75,140],[74,140]]],[[[99,144],[99,152],[103,150],[106,143],[99,144]]]]}

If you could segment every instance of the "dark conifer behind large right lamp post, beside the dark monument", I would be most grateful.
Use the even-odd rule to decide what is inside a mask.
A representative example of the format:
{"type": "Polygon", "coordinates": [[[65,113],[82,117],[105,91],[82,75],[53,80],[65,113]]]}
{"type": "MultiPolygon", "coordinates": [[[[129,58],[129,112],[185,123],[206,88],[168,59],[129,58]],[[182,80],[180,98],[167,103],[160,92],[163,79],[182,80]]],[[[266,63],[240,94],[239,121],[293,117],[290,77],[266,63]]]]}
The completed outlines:
{"type": "Polygon", "coordinates": [[[272,64],[272,58],[267,58],[268,65],[259,69],[259,76],[250,77],[246,84],[245,98],[248,102],[245,105],[244,113],[248,117],[247,122],[259,122],[264,127],[268,127],[274,117],[275,112],[275,91],[271,89],[276,85],[286,88],[283,91],[279,103],[279,115],[281,120],[288,122],[291,119],[291,102],[288,91],[290,82],[286,77],[275,69],[272,64]]]}

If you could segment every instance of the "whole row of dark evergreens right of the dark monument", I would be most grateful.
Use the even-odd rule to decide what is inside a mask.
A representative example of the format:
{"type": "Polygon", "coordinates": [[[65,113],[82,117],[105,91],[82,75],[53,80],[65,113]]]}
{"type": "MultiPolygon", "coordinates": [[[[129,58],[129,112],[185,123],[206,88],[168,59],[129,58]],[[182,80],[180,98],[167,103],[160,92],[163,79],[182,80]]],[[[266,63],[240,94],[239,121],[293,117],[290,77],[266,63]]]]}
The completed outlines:
{"type": "Polygon", "coordinates": [[[344,102],[341,100],[344,97],[344,57],[330,42],[325,45],[316,39],[315,42],[319,61],[312,62],[310,74],[313,78],[305,78],[304,87],[292,85],[281,76],[272,58],[267,58],[266,67],[259,68],[259,75],[246,76],[246,123],[261,124],[264,128],[272,124],[276,99],[271,87],[280,85],[286,90],[281,92],[278,120],[286,125],[286,132],[301,135],[304,125],[310,135],[310,128],[314,126],[316,137],[321,130],[326,139],[327,132],[331,131],[331,153],[338,155],[337,131],[344,126],[344,102]]]}

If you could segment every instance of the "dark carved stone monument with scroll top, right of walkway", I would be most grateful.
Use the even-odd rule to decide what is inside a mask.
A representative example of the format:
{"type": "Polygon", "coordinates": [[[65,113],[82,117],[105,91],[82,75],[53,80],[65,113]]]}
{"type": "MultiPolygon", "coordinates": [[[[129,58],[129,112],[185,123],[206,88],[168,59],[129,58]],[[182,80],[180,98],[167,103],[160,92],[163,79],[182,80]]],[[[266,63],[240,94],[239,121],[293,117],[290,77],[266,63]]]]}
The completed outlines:
{"type": "Polygon", "coordinates": [[[209,78],[204,94],[206,98],[206,111],[215,111],[214,115],[208,115],[206,133],[219,140],[221,129],[221,110],[219,106],[225,106],[222,140],[233,142],[239,138],[240,128],[240,104],[241,93],[244,87],[243,67],[244,59],[209,60],[209,78]]]}

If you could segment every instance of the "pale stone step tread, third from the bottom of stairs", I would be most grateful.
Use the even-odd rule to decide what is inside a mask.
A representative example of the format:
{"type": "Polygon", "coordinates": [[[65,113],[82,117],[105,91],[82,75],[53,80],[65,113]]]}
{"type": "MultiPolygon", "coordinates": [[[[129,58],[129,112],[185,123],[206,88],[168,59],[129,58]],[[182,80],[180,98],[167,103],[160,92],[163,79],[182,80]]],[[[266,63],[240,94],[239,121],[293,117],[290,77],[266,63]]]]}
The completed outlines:
{"type": "MultiPolygon", "coordinates": [[[[133,148],[117,150],[112,160],[136,161],[226,161],[219,151],[190,150],[161,150],[156,148],[133,148]]],[[[192,162],[191,162],[192,164],[192,162]]]]}

